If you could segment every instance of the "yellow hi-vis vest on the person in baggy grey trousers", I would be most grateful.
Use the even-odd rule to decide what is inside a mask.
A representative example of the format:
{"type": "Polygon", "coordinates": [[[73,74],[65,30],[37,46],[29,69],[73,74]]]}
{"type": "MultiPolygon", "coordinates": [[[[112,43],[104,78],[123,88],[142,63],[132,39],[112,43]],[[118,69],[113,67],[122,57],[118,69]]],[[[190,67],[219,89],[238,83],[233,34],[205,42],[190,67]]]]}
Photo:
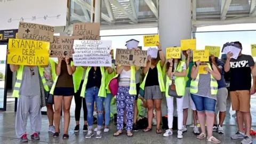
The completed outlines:
{"type": "MultiPolygon", "coordinates": [[[[17,80],[16,83],[14,85],[13,88],[13,93],[12,93],[12,97],[14,98],[20,98],[20,86],[21,86],[21,82],[22,82],[22,78],[23,78],[23,65],[20,65],[20,68],[17,70],[17,80]]],[[[45,81],[45,77],[44,77],[44,68],[41,68],[40,66],[38,66],[38,71],[39,71],[39,75],[41,76],[43,85],[44,85],[44,90],[45,91],[49,91],[49,87],[46,84],[45,81]]]]}

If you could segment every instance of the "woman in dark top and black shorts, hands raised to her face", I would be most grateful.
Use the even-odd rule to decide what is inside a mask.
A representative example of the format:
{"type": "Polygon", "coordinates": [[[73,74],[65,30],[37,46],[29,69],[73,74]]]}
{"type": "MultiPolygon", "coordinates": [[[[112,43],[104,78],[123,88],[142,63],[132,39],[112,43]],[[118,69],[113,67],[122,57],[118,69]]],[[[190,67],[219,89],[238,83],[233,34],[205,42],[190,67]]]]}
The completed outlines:
{"type": "Polygon", "coordinates": [[[63,101],[64,113],[64,134],[63,139],[68,139],[68,127],[70,122],[70,106],[74,95],[73,74],[76,67],[73,66],[73,61],[68,56],[59,57],[58,63],[55,63],[55,72],[57,77],[54,79],[50,94],[54,95],[54,138],[59,137],[60,133],[60,113],[63,101]]]}

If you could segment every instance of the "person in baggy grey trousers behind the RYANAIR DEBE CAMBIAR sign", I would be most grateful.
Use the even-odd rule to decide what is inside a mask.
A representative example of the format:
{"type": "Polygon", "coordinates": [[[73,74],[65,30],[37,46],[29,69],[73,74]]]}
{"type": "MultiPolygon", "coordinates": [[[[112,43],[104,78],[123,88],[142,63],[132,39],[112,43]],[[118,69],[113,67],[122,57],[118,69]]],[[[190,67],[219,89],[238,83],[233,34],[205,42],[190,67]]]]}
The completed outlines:
{"type": "MultiPolygon", "coordinates": [[[[10,54],[7,50],[7,54],[10,54]]],[[[44,77],[43,66],[10,65],[11,71],[17,71],[17,80],[14,85],[14,98],[18,98],[15,131],[21,142],[28,142],[26,126],[30,117],[31,139],[39,140],[41,131],[41,95],[49,91],[44,77]],[[42,89],[43,87],[43,89],[42,89]]]]}

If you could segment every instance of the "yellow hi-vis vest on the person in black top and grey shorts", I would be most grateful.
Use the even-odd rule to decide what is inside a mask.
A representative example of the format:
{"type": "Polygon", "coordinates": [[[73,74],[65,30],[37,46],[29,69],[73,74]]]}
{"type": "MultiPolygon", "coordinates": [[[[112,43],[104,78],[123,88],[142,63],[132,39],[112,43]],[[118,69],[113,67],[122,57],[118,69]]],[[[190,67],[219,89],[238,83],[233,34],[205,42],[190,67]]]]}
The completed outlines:
{"type": "MultiPolygon", "coordinates": [[[[162,68],[161,68],[160,62],[161,62],[161,61],[159,61],[159,62],[157,63],[156,68],[157,68],[157,73],[158,73],[158,83],[159,83],[159,87],[160,87],[161,92],[164,92],[164,91],[165,91],[165,85],[164,85],[164,78],[163,78],[162,68]]],[[[148,72],[147,72],[146,76],[144,77],[143,82],[142,82],[141,85],[140,85],[140,88],[141,88],[142,90],[144,90],[144,88],[145,88],[145,83],[146,83],[147,76],[148,76],[148,72]]]]}

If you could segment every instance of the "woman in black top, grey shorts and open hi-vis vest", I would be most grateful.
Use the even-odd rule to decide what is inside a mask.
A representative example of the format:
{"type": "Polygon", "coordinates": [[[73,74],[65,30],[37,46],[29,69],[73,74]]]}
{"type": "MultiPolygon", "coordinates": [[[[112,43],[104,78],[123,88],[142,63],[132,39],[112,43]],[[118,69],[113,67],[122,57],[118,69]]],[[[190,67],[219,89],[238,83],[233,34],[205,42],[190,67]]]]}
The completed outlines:
{"type": "Polygon", "coordinates": [[[143,82],[140,85],[142,90],[145,90],[145,99],[148,105],[148,127],[143,132],[152,130],[153,108],[156,109],[156,132],[162,133],[160,128],[162,111],[161,103],[163,99],[163,92],[165,91],[165,85],[162,75],[162,68],[165,63],[165,55],[162,51],[161,44],[158,46],[158,53],[156,59],[151,59],[148,56],[147,66],[143,68],[143,73],[146,74],[143,82]]]}

